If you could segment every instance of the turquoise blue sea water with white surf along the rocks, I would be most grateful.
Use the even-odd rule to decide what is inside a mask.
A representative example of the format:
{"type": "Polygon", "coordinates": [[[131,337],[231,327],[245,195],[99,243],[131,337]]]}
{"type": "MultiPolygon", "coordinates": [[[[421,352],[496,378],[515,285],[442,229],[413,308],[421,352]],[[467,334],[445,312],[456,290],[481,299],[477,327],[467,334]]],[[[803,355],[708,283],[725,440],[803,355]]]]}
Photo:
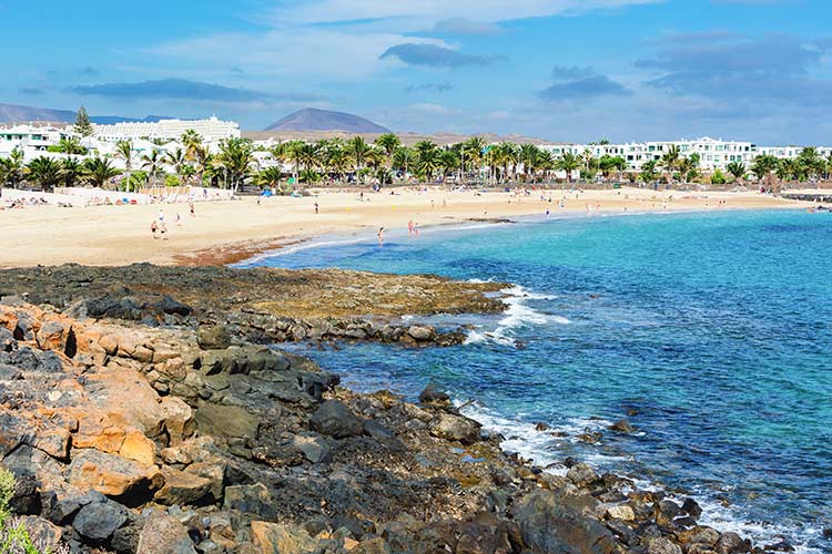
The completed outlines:
{"type": "Polygon", "coordinates": [[[364,390],[415,397],[434,381],[476,400],[468,412],[507,450],[639,475],[698,495],[713,525],[821,552],[832,548],[821,536],[832,526],[830,253],[830,215],[721,212],[426,229],[255,264],[511,283],[506,314],[463,320],[476,326],[464,346],[310,353],[364,390]],[[623,417],[638,433],[576,439],[623,417]]]}

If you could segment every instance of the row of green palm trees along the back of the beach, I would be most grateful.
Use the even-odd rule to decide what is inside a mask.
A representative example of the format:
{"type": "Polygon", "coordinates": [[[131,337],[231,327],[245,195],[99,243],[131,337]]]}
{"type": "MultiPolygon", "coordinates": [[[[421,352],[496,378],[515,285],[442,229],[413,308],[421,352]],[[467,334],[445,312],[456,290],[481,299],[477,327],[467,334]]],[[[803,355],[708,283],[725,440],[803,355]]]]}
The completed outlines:
{"type": "MultiPolygon", "coordinates": [[[[571,179],[577,172],[585,181],[595,181],[600,176],[605,181],[615,178],[632,183],[691,183],[704,177],[699,154],[684,156],[676,145],[664,151],[659,160],[645,162],[640,172],[636,173],[628,171],[628,163],[622,156],[605,154],[595,157],[589,150],[580,155],[570,152],[556,155],[534,144],[487,144],[478,136],[449,146],[439,146],[432,141],[406,146],[397,135],[387,133],[372,143],[355,136],[314,143],[287,141],[267,150],[255,148],[254,143],[246,138],[226,138],[220,142],[219,152],[212,154],[202,137],[190,130],[170,150],[160,147],[140,154],[131,141],[119,142],[115,156],[123,160],[123,172],[115,168],[110,158],[98,154],[83,161],[73,157],[88,154],[74,137],[62,138],[50,150],[69,154],[69,157],[54,160],[40,156],[23,164],[22,153],[13,151],[9,157],[0,158],[0,186],[18,186],[27,182],[44,191],[77,183],[103,187],[122,173],[124,175],[119,186],[123,191],[139,191],[146,185],[179,184],[236,191],[244,183],[287,191],[295,184],[373,182],[385,185],[412,177],[423,183],[455,178],[473,184],[535,184],[551,183],[557,172],[565,172],[567,179],[571,179]],[[262,153],[264,150],[265,156],[257,155],[258,151],[262,153]],[[263,158],[271,163],[261,164],[263,158]]],[[[818,148],[810,146],[803,148],[794,160],[761,155],[748,167],[741,162],[731,162],[726,170],[734,183],[753,174],[772,186],[774,179],[782,183],[829,178],[832,156],[824,158],[818,148]]],[[[717,171],[710,175],[710,182],[724,184],[728,176],[717,171]]]]}

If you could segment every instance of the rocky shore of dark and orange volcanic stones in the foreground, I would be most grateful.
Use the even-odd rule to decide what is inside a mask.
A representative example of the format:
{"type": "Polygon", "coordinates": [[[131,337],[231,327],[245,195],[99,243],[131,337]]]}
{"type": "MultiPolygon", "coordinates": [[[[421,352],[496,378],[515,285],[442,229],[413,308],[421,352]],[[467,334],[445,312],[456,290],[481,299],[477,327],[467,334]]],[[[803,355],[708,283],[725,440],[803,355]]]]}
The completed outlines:
{"type": "MultiPolygon", "coordinates": [[[[690,499],[570,460],[556,476],[504,453],[500,437],[443,391],[428,388],[414,404],[343,389],[312,361],[263,346],[271,324],[247,317],[288,317],[285,299],[292,309],[306,302],[292,319],[313,325],[341,301],[338,289],[358,306],[335,317],[356,325],[405,305],[499,309],[488,296],[499,286],[376,277],[152,266],[0,273],[10,507],[40,544],[78,553],[762,552],[699,525],[690,499]],[[133,280],[114,289],[104,277],[133,280]]],[[[430,343],[422,331],[400,332],[396,340],[430,343]]],[[[365,335],[354,339],[375,339],[365,335]]]]}

